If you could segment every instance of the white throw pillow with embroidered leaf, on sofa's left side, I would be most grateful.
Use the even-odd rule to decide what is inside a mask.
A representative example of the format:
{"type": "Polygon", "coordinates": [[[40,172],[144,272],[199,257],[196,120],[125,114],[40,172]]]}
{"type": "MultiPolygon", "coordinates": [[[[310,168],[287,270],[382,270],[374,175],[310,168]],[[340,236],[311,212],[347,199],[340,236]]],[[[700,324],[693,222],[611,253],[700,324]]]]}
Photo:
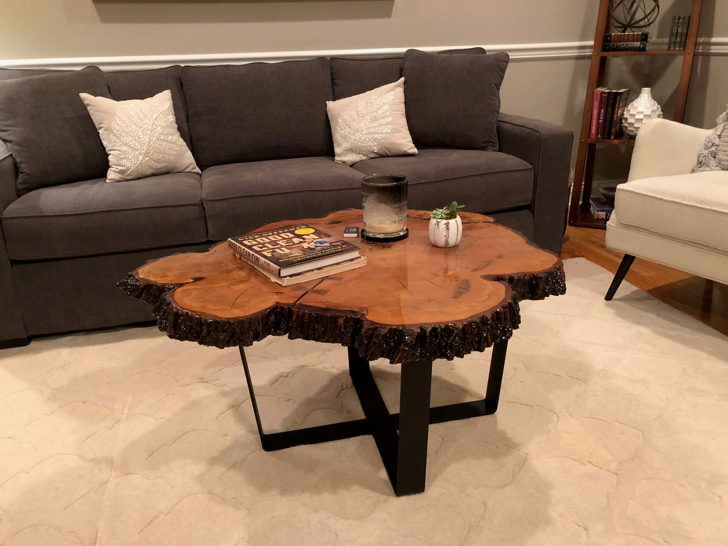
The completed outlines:
{"type": "Polygon", "coordinates": [[[142,100],[111,100],[79,93],[108,154],[107,182],[166,173],[199,173],[182,140],[172,92],[142,100]]]}

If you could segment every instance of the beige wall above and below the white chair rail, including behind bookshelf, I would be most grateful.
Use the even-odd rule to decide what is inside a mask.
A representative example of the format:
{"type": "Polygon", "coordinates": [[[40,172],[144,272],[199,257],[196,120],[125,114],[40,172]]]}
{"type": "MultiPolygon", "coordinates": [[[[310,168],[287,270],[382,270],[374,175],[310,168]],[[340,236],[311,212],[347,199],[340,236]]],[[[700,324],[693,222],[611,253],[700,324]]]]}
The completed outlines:
{"type": "MultiPolygon", "coordinates": [[[[690,0],[662,0],[649,30],[667,36],[670,17],[690,0]]],[[[728,1],[705,0],[700,36],[728,36],[728,1]]],[[[591,41],[597,0],[2,0],[1,60],[127,55],[358,50],[381,47],[591,41]]],[[[679,61],[610,62],[608,82],[652,87],[674,106],[679,61]]],[[[514,59],[502,109],[579,132],[588,59],[514,59]]],[[[728,102],[728,57],[696,58],[685,121],[710,127],[728,102]]],[[[575,159],[575,150],[572,161],[575,159]]],[[[630,149],[598,154],[597,178],[617,178],[630,149]]]]}

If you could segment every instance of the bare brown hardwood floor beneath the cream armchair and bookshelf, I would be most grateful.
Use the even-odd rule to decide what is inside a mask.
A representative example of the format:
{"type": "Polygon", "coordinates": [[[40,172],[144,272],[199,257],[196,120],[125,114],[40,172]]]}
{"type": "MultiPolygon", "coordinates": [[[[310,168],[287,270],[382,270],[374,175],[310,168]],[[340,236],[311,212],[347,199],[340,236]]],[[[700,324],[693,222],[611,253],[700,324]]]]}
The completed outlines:
{"type": "MultiPolygon", "coordinates": [[[[561,258],[587,258],[614,274],[622,253],[606,248],[604,229],[569,226],[561,258]]],[[[728,285],[636,258],[625,281],[728,336],[728,285]]],[[[614,298],[619,298],[617,290],[614,298]]]]}

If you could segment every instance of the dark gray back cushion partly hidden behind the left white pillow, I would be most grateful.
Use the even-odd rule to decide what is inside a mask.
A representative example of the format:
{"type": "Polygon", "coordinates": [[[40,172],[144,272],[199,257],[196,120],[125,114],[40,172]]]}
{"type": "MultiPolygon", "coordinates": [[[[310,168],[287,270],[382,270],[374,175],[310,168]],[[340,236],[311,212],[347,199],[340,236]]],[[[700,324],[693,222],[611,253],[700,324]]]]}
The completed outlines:
{"type": "Polygon", "coordinates": [[[182,67],[167,66],[156,70],[122,70],[105,72],[106,85],[114,100],[143,99],[170,90],[175,108],[177,129],[187,147],[191,148],[187,101],[182,90],[182,67]]]}

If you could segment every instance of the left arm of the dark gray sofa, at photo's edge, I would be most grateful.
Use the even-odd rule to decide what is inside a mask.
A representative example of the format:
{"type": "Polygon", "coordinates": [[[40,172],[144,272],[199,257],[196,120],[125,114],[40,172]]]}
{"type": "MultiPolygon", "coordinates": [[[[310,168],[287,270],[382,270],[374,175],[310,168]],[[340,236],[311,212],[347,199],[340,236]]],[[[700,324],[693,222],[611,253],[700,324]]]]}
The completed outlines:
{"type": "MultiPolygon", "coordinates": [[[[15,194],[15,160],[7,147],[0,141],[0,213],[17,199],[15,194]]],[[[0,226],[0,348],[23,344],[25,326],[20,317],[15,288],[10,277],[10,261],[7,257],[5,239],[0,226]]]]}

